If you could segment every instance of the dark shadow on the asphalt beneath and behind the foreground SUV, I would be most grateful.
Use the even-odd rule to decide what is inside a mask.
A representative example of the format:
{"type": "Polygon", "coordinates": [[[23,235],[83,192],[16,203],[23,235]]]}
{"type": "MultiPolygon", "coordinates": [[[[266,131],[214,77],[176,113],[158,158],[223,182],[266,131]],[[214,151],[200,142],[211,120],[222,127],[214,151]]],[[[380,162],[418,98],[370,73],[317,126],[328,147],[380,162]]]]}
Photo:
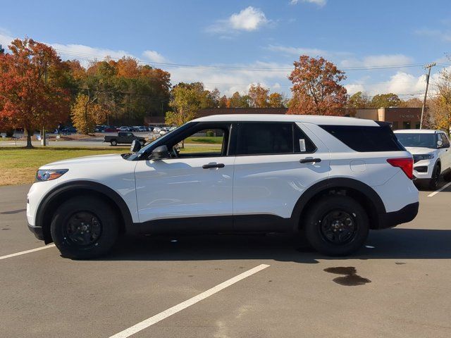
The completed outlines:
{"type": "MultiPolygon", "coordinates": [[[[302,241],[301,241],[302,242],[302,241]]],[[[121,239],[106,261],[211,261],[273,259],[319,263],[334,259],[449,259],[451,230],[389,229],[371,231],[364,246],[347,257],[323,256],[292,236],[202,235],[128,237],[121,239]]]]}

